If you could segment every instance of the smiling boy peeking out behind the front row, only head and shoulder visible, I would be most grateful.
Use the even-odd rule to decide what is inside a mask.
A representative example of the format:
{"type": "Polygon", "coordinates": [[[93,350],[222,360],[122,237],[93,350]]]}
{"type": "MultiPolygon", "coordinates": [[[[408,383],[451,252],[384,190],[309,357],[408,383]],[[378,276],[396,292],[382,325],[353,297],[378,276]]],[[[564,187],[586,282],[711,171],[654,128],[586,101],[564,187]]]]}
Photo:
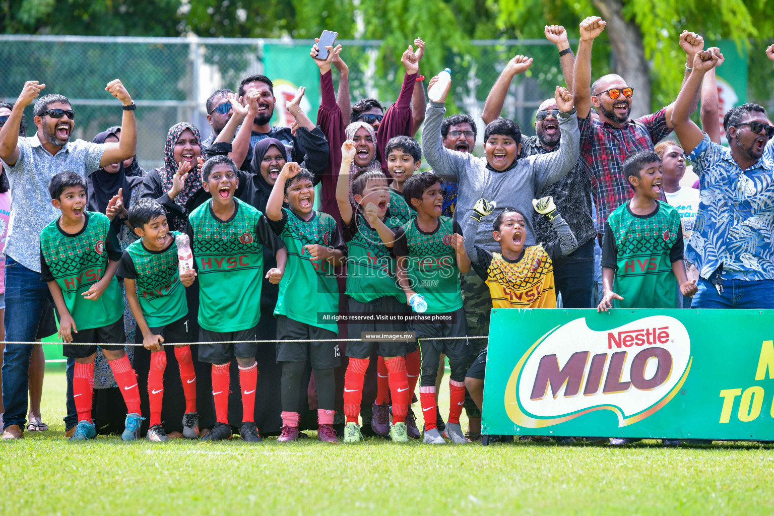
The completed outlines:
{"type": "Polygon", "coordinates": [[[389,185],[389,210],[392,218],[399,224],[406,224],[414,217],[414,210],[403,198],[403,183],[420,169],[422,164],[422,148],[419,142],[410,136],[389,138],[385,147],[387,169],[392,181],[389,185]]]}

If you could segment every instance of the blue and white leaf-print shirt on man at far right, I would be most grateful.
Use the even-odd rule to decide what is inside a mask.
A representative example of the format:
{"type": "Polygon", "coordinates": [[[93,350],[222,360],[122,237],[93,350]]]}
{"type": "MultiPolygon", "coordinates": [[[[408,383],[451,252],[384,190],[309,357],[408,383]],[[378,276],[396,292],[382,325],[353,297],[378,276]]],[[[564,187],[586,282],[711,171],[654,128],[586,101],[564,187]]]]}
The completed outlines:
{"type": "Polygon", "coordinates": [[[700,200],[687,261],[702,278],[722,263],[723,279],[774,279],[774,140],[746,170],[707,135],[688,159],[700,200]]]}

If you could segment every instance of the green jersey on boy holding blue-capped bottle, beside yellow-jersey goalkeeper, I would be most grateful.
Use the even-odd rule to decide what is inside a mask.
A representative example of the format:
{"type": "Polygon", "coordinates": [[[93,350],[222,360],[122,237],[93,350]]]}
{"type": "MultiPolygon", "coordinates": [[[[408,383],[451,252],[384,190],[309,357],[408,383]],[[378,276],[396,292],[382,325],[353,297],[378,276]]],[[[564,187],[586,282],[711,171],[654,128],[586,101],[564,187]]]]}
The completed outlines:
{"type": "Polygon", "coordinates": [[[462,231],[450,217],[441,216],[438,221],[433,233],[421,231],[416,226],[416,218],[403,224],[396,232],[392,252],[396,257],[409,258],[406,264],[409,287],[424,296],[427,313],[450,313],[462,306],[460,269],[451,247],[451,235],[462,231]]]}

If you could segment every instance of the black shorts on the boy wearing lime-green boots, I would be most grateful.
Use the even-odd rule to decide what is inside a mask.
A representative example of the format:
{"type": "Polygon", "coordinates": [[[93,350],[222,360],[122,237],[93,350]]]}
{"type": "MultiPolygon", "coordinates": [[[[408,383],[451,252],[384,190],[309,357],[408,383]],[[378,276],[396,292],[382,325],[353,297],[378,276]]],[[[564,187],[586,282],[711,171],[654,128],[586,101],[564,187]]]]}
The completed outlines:
{"type": "MultiPolygon", "coordinates": [[[[409,306],[399,302],[393,296],[380,297],[372,302],[359,302],[349,299],[349,313],[409,313],[409,306]]],[[[398,321],[365,321],[348,323],[347,335],[350,339],[359,339],[364,331],[406,331],[406,323],[398,321]]],[[[403,357],[416,349],[413,342],[396,342],[385,340],[381,342],[354,341],[347,343],[345,355],[351,358],[368,358],[374,353],[374,347],[380,357],[403,357]]]]}

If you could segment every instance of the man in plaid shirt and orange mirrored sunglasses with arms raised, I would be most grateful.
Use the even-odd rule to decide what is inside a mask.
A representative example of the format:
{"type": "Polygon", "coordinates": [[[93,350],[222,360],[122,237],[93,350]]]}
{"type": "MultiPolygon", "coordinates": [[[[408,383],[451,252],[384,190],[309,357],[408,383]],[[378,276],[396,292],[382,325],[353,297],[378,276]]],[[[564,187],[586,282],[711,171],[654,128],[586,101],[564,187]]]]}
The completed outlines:
{"type": "MultiPolygon", "coordinates": [[[[635,92],[621,76],[605,75],[589,87],[591,45],[604,30],[604,24],[598,16],[589,16],[580,22],[573,85],[580,128],[580,161],[591,176],[600,234],[604,234],[608,215],[632,198],[632,189],[623,176],[624,160],[633,152],[652,150],[659,140],[672,132],[674,108],[674,104],[670,104],[656,113],[632,120],[628,117],[635,92]],[[599,120],[592,121],[589,117],[592,104],[599,111],[599,120]]],[[[680,46],[687,55],[686,68],[690,72],[694,56],[704,49],[704,39],[685,31],[680,35],[680,46]]],[[[695,109],[696,104],[693,105],[695,109]]]]}

